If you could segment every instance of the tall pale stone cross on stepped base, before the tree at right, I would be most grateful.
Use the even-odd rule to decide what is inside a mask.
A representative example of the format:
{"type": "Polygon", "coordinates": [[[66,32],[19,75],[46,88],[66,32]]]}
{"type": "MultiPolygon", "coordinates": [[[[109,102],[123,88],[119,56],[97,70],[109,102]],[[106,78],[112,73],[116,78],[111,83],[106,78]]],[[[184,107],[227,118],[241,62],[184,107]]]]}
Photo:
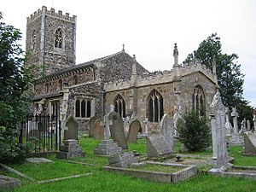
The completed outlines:
{"type": "Polygon", "coordinates": [[[230,138],[230,142],[233,145],[242,145],[243,138],[239,135],[239,132],[238,132],[238,123],[237,123],[238,113],[236,112],[236,108],[232,108],[231,117],[233,118],[234,132],[232,134],[232,137],[230,138]]]}

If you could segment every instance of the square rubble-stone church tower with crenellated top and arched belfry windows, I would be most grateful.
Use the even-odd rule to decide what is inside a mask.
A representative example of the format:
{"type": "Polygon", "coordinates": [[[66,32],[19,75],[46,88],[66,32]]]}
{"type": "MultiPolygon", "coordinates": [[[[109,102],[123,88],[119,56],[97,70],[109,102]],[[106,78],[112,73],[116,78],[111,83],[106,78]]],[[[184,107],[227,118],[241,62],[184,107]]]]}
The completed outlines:
{"type": "Polygon", "coordinates": [[[76,16],[42,9],[26,19],[26,67],[36,66],[38,78],[75,65],[76,16]]]}

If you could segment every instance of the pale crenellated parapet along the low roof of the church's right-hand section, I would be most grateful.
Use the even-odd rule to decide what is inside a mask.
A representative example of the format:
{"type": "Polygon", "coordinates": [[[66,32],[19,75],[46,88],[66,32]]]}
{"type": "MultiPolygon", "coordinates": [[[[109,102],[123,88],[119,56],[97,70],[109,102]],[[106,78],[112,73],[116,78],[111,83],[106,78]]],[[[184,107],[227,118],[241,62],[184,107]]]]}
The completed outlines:
{"type": "MultiPolygon", "coordinates": [[[[172,83],[177,80],[182,79],[182,77],[187,76],[191,73],[202,73],[208,79],[210,79],[213,83],[217,84],[217,76],[212,73],[212,70],[208,69],[205,65],[202,65],[200,61],[195,61],[194,63],[190,63],[189,65],[183,65],[178,67],[178,75],[177,78],[177,68],[172,69],[171,71],[156,71],[152,73],[144,73],[141,76],[137,75],[136,78],[136,86],[143,87],[154,84],[167,84],[172,83]]],[[[122,80],[119,79],[117,81],[111,81],[104,84],[104,90],[106,92],[114,91],[114,90],[125,90],[130,89],[133,86],[133,82],[131,80],[122,80]]]]}

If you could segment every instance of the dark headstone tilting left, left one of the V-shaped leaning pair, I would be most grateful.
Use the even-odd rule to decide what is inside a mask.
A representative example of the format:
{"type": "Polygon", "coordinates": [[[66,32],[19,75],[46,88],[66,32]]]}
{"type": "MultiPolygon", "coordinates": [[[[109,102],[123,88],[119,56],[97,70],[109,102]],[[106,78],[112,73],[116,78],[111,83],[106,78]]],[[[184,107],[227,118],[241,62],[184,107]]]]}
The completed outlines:
{"type": "Polygon", "coordinates": [[[108,119],[112,122],[112,124],[109,125],[109,127],[111,137],[113,138],[113,142],[118,143],[119,147],[127,149],[128,146],[125,140],[124,123],[123,120],[120,118],[119,113],[108,113],[108,119]]]}

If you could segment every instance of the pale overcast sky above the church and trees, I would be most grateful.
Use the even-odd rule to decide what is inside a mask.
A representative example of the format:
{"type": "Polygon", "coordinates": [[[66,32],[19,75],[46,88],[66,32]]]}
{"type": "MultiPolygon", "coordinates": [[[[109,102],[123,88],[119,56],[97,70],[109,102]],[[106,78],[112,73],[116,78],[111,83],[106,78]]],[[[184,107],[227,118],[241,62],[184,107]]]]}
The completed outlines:
{"type": "Polygon", "coordinates": [[[3,21],[23,33],[26,17],[54,8],[77,15],[77,64],[122,49],[149,71],[170,70],[217,32],[223,53],[239,55],[244,97],[256,108],[256,0],[0,0],[3,21]]]}

